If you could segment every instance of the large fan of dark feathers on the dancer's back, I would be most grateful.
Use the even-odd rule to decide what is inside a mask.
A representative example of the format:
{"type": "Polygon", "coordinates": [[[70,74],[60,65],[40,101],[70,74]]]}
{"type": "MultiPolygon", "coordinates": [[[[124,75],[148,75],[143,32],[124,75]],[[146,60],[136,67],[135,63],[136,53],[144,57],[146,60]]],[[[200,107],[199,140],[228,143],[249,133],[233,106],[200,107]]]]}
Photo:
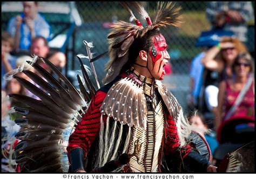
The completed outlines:
{"type": "MultiPolygon", "coordinates": [[[[94,60],[97,60],[97,58],[94,60]]],[[[44,58],[41,59],[58,75],[64,86],[44,68],[30,61],[27,62],[43,78],[31,71],[23,70],[23,72],[42,88],[38,88],[16,75],[13,76],[41,100],[20,94],[9,95],[28,106],[25,108],[14,107],[15,112],[23,115],[23,118],[16,119],[15,122],[24,129],[15,135],[21,141],[16,145],[11,158],[13,157],[20,164],[23,172],[66,172],[69,167],[68,156],[65,152],[68,137],[77,125],[76,122],[78,122],[79,116],[82,117],[79,114],[80,109],[84,108],[86,110],[87,104],[85,101],[90,101],[95,92],[92,92],[90,97],[80,80],[80,84],[82,84],[80,87],[83,87],[80,91],[83,91],[86,100],[83,99],[80,92],[50,61],[44,58]]],[[[84,67],[82,66],[83,71],[84,67]]]]}

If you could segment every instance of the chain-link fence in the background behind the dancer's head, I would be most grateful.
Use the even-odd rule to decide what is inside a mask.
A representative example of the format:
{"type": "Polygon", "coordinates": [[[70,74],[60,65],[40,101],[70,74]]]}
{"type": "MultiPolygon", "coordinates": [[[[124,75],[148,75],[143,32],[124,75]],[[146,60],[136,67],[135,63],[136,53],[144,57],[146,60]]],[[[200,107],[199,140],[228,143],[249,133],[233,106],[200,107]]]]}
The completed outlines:
{"type": "MultiPolygon", "coordinates": [[[[6,30],[6,24],[10,17],[22,11],[22,7],[19,10],[12,10],[14,9],[13,5],[9,9],[3,9],[4,3],[6,2],[2,2],[2,31],[6,30]]],[[[39,6],[44,3],[39,2],[39,6]]],[[[65,12],[64,6],[60,7],[58,5],[60,2],[47,3],[52,6],[54,5],[55,8],[51,8],[50,10],[44,7],[41,10],[39,9],[39,12],[42,13],[51,25],[52,37],[59,36],[58,40],[56,40],[57,44],[60,42],[63,43],[58,48],[64,51],[68,57],[65,73],[73,81],[73,84],[77,86],[76,71],[80,67],[76,55],[82,53],[87,56],[83,40],[93,43],[94,47],[91,51],[94,53],[94,57],[98,56],[107,51],[109,25],[117,20],[129,22],[130,15],[118,2],[62,2],[62,4],[66,4],[66,7],[69,8],[69,11],[65,12]],[[77,18],[81,19],[80,23],[77,23],[77,18]],[[75,25],[72,26],[72,24],[75,25]],[[63,36],[66,40],[61,38],[63,36]]],[[[153,20],[156,2],[142,3],[153,20]]],[[[254,8],[254,2],[252,3],[254,8]]],[[[195,46],[196,40],[202,31],[211,29],[211,24],[206,18],[207,2],[176,2],[176,5],[182,8],[181,13],[184,16],[184,24],[180,29],[177,27],[161,29],[161,32],[166,37],[167,44],[169,44],[167,50],[170,53],[170,63],[172,64],[172,74],[166,75],[164,83],[177,97],[181,106],[186,111],[186,95],[189,93],[190,64],[193,57],[200,52],[199,47],[195,46]]],[[[137,15],[136,17],[139,16],[137,15]]],[[[142,23],[145,22],[142,21],[142,23]]],[[[246,45],[254,53],[254,19],[249,24],[247,35],[250,40],[248,40],[246,45]]],[[[50,42],[49,44],[56,45],[56,42],[50,42]]],[[[56,48],[54,45],[51,47],[56,48]]],[[[95,61],[96,72],[100,80],[105,75],[104,65],[107,60],[109,58],[106,55],[95,61]]],[[[83,62],[90,67],[87,59],[83,59],[83,62]]]]}

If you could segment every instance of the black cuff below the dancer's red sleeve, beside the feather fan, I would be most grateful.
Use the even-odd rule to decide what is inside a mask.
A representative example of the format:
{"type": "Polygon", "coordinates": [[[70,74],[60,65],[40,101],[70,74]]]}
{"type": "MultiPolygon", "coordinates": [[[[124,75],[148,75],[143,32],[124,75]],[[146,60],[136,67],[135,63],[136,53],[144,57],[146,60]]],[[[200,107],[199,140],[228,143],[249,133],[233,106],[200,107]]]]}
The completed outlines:
{"type": "Polygon", "coordinates": [[[84,150],[80,147],[70,152],[71,173],[77,169],[84,169],[84,150]]]}

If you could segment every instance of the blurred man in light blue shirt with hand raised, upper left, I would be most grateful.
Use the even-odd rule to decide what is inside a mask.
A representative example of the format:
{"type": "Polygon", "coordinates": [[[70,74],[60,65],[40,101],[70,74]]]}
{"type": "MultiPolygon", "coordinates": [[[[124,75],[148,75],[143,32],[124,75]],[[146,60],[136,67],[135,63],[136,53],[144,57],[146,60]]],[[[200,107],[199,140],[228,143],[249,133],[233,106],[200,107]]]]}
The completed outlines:
{"type": "Polygon", "coordinates": [[[32,40],[42,36],[50,40],[51,27],[38,13],[38,2],[22,2],[23,12],[8,22],[8,32],[15,38],[15,50],[29,50],[32,40]]]}

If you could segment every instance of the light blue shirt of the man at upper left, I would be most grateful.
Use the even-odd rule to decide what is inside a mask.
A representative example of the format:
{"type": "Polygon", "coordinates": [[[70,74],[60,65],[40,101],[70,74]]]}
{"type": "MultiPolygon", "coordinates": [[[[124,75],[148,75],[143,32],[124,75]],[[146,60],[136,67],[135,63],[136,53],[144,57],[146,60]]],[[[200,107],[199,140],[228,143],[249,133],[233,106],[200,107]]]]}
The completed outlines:
{"type": "MultiPolygon", "coordinates": [[[[24,13],[21,13],[21,16],[24,17],[24,13]]],[[[8,32],[15,36],[16,32],[16,24],[15,24],[16,17],[12,17],[11,20],[8,23],[8,32]]],[[[47,40],[50,39],[50,33],[51,33],[51,27],[46,22],[43,16],[41,16],[39,13],[37,13],[37,16],[35,18],[35,35],[37,36],[43,36],[47,40]]],[[[30,30],[28,25],[25,23],[21,24],[21,40],[19,43],[19,49],[22,50],[28,50],[31,44],[31,36],[30,36],[30,30]]]]}

